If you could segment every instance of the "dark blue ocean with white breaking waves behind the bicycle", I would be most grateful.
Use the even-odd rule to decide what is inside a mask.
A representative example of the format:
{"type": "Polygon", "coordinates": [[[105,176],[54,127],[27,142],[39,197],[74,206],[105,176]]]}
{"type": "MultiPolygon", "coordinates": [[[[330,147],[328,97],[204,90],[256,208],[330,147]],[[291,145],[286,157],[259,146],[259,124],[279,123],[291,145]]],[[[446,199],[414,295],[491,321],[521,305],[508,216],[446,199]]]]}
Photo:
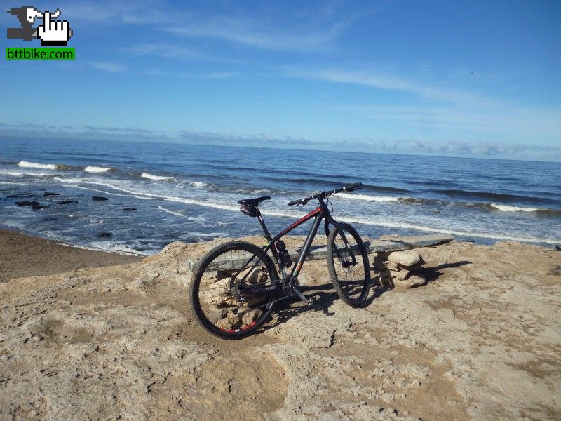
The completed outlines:
{"type": "Polygon", "coordinates": [[[362,190],[331,203],[363,236],[561,244],[561,163],[97,140],[1,138],[0,226],[152,254],[172,241],[261,233],[240,199],[271,196],[260,208],[276,233],[313,210],[288,201],[358,181],[362,190]],[[25,200],[43,207],[15,204],[25,200]]]}

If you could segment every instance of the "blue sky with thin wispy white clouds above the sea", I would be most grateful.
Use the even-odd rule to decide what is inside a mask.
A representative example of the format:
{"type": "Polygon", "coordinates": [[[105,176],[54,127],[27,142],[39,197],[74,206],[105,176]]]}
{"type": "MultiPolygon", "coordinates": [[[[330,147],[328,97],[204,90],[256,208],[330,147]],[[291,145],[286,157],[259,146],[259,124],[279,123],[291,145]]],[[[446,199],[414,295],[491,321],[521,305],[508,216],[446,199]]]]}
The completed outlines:
{"type": "Polygon", "coordinates": [[[561,161],[559,1],[28,3],[76,60],[1,62],[4,136],[561,161]]]}

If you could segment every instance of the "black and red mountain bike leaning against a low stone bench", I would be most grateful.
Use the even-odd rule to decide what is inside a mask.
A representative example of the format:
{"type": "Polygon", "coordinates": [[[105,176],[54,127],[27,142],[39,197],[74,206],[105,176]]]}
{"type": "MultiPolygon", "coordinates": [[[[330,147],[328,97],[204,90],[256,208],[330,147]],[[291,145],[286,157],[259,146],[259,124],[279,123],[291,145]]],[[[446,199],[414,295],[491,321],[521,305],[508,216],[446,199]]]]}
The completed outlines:
{"type": "Polygon", "coordinates": [[[362,183],[357,182],[289,202],[288,206],[304,206],[317,199],[318,206],[274,237],[259,210],[259,204],[271,197],[238,201],[242,213],[259,220],[266,244],[260,248],[247,241],[230,241],[213,248],[198,262],[191,279],[190,296],[191,308],[201,325],[220,338],[240,339],[255,333],[280,300],[297,297],[313,305],[313,299],[300,291],[298,275],[322,220],[327,236],[327,268],[335,291],[352,307],[365,305],[370,289],[367,250],[356,229],[334,220],[327,206],[330,203],[327,198],[332,194],[361,187],[362,183]],[[311,218],[309,234],[292,264],[281,238],[311,218]]]}

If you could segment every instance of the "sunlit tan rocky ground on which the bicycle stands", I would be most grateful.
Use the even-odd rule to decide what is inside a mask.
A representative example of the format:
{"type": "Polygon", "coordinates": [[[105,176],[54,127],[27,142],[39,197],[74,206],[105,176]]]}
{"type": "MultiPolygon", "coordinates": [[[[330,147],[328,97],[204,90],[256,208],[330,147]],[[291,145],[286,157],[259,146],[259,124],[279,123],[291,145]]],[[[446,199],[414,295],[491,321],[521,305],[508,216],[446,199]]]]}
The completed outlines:
{"type": "Polygon", "coordinates": [[[387,273],[365,309],[337,298],[324,260],[306,262],[316,306],[283,305],[232,342],[198,326],[186,288],[188,258],[223,241],[0,283],[0,419],[561,417],[559,252],[371,256],[387,273]],[[426,284],[407,288],[412,276],[426,284]]]}

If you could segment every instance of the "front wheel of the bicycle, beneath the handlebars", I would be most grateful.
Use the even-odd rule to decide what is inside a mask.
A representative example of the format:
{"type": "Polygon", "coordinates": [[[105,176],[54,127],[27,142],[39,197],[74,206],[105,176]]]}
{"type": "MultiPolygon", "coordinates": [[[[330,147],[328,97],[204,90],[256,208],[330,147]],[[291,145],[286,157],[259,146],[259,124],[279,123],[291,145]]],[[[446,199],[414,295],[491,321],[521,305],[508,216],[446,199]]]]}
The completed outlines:
{"type": "Polygon", "coordinates": [[[339,224],[327,239],[327,268],[337,295],[351,307],[363,307],[370,288],[370,264],[363,240],[349,224],[339,224]]]}

